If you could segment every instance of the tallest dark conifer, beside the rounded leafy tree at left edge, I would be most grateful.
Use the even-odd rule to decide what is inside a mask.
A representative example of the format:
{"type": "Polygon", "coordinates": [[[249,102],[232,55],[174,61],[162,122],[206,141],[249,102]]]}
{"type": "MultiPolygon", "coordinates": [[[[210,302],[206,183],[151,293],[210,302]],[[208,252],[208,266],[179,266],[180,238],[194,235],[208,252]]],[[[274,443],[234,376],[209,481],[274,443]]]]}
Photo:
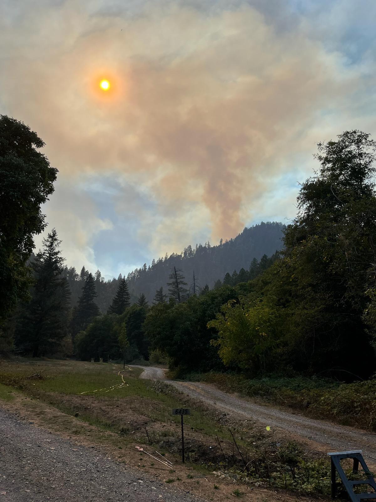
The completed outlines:
{"type": "Polygon", "coordinates": [[[52,353],[68,333],[70,291],[62,274],[62,258],[55,228],[43,239],[43,249],[32,264],[34,285],[16,330],[16,342],[33,357],[52,353]]]}

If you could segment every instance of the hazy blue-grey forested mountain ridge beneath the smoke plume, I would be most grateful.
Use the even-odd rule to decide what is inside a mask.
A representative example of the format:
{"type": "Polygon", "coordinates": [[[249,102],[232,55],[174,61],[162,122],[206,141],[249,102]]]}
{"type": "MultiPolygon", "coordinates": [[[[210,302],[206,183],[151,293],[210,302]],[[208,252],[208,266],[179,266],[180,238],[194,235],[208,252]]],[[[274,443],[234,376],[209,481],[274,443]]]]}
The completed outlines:
{"type": "MultiPolygon", "coordinates": [[[[191,293],[193,292],[194,271],[197,288],[203,288],[208,284],[209,288],[213,289],[218,280],[223,281],[227,272],[233,274],[235,270],[239,272],[242,268],[248,271],[253,259],[256,258],[259,261],[262,256],[271,257],[276,250],[280,250],[283,228],[282,223],[261,222],[244,228],[242,233],[229,241],[223,242],[221,239],[217,246],[211,246],[209,242],[205,245],[196,244],[195,248],[189,245],[180,254],[172,253],[170,256],[166,254],[164,258],[153,260],[149,266],[144,264],[142,268],[132,271],[127,276],[131,303],[135,303],[143,293],[151,304],[155,291],[161,287],[167,293],[166,284],[173,267],[181,269],[187,282],[187,289],[191,288],[191,293]]],[[[74,307],[89,271],[83,267],[81,272],[77,273],[74,267],[64,267],[64,275],[70,286],[71,303],[74,307]]],[[[94,277],[98,294],[96,303],[101,312],[105,313],[116,293],[122,275],[105,281],[101,272],[97,270],[94,277]]]]}

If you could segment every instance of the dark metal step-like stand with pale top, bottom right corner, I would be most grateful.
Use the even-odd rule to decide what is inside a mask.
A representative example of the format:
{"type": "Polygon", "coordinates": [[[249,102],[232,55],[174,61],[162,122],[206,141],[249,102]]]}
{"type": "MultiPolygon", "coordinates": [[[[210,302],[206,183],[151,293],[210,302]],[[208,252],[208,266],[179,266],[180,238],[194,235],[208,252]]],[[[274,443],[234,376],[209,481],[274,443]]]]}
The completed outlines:
{"type": "Polygon", "coordinates": [[[330,494],[331,494],[332,498],[335,498],[335,496],[336,496],[337,485],[336,485],[335,477],[336,477],[336,472],[338,472],[339,477],[340,477],[344,487],[346,488],[347,493],[348,493],[350,500],[352,502],[359,502],[359,500],[364,500],[365,498],[376,499],[376,482],[373,479],[372,474],[369,472],[367,464],[365,463],[361,453],[362,453],[361,450],[337,451],[334,453],[328,453],[328,455],[330,456],[330,479],[331,479],[330,494]],[[342,469],[342,466],[340,463],[342,458],[352,458],[353,459],[352,472],[358,471],[359,462],[360,462],[360,465],[362,466],[362,468],[365,472],[365,475],[367,476],[367,479],[363,479],[360,481],[350,481],[349,479],[347,479],[347,476],[344,473],[344,470],[342,469]],[[371,486],[373,488],[374,493],[354,493],[353,487],[358,484],[368,484],[369,486],[371,486]]]}

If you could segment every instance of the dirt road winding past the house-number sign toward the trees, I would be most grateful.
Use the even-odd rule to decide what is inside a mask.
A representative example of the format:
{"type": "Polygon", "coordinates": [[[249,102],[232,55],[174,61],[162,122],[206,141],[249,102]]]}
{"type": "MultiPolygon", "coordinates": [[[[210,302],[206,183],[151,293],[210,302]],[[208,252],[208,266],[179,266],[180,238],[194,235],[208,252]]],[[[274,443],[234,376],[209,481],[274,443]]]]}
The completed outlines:
{"type": "MultiPolygon", "coordinates": [[[[141,378],[165,380],[164,371],[155,367],[144,367],[141,378]]],[[[256,420],[265,426],[276,427],[303,439],[312,440],[327,451],[363,450],[369,464],[376,462],[376,434],[352,427],[336,425],[323,420],[313,420],[303,415],[280,410],[271,406],[255,404],[251,399],[239,398],[220,391],[209,384],[198,382],[168,381],[180,392],[192,398],[205,401],[220,410],[242,419],[256,420]]]]}

